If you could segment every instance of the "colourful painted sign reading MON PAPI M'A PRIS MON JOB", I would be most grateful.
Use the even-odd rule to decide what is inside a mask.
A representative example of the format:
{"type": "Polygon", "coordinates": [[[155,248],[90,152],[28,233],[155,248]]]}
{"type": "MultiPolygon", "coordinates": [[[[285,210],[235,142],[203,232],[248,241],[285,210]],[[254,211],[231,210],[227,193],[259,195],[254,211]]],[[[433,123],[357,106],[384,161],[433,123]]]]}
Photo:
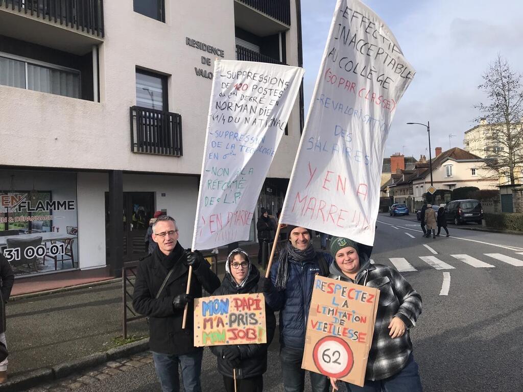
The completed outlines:
{"type": "Polygon", "coordinates": [[[196,298],[194,312],[195,347],[267,343],[261,293],[196,298]]]}

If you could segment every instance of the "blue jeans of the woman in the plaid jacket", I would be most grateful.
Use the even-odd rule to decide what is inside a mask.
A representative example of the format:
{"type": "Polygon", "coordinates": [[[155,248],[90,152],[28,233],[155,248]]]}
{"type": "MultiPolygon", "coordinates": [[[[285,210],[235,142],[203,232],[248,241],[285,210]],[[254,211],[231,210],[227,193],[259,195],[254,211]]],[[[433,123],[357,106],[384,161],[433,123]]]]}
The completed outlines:
{"type": "Polygon", "coordinates": [[[345,384],[348,392],[422,392],[422,381],[419,378],[418,364],[411,354],[405,367],[395,375],[378,381],[365,380],[365,385],[359,387],[345,384]]]}

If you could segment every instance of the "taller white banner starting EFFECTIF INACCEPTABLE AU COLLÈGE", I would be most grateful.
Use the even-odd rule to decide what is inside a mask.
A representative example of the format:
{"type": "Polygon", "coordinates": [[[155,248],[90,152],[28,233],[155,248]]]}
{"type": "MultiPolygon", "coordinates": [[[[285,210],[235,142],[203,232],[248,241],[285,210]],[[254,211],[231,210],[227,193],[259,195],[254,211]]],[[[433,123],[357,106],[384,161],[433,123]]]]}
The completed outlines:
{"type": "Polygon", "coordinates": [[[280,222],[373,244],[384,144],[414,74],[370,8],[338,0],[280,222]]]}

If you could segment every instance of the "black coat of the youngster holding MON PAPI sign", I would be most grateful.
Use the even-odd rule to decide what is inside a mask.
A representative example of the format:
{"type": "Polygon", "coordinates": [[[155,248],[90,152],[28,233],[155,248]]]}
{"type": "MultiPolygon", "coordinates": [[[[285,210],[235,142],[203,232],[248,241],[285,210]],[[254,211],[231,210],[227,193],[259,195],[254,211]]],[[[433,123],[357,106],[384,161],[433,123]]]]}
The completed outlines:
{"type": "MultiPolygon", "coordinates": [[[[252,266],[251,273],[243,287],[236,287],[233,278],[229,273],[225,273],[222,285],[212,295],[229,294],[248,294],[261,293],[258,287],[260,273],[255,266],[252,266]]],[[[272,309],[265,303],[265,320],[267,330],[267,343],[265,344],[238,344],[241,353],[240,368],[236,368],[236,378],[249,378],[264,374],[267,371],[267,349],[269,347],[274,332],[276,330],[276,317],[272,309]]],[[[223,349],[225,345],[210,346],[211,352],[216,355],[218,361],[218,372],[224,376],[233,377],[232,368],[223,359],[223,349]]]]}

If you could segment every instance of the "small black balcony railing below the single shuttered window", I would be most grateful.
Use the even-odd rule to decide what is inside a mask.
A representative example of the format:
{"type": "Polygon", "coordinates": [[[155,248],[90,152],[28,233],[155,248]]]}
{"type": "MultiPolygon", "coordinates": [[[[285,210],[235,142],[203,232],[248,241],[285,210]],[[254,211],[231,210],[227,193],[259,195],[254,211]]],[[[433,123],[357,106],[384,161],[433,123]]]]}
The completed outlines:
{"type": "Polygon", "coordinates": [[[183,155],[178,113],[131,106],[130,119],[133,153],[183,155]]]}

